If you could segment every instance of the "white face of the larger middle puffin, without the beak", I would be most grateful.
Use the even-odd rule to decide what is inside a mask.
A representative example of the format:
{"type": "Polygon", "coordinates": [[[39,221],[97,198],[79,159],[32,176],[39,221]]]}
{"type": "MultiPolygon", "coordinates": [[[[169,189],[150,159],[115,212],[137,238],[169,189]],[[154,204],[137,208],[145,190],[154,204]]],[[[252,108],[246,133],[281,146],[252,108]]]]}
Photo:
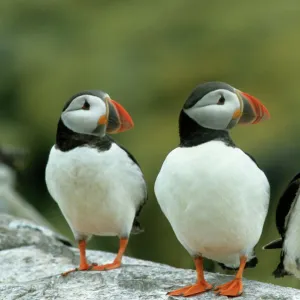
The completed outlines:
{"type": "Polygon", "coordinates": [[[219,89],[207,93],[194,106],[184,109],[184,112],[205,128],[225,130],[234,126],[230,123],[238,110],[242,110],[242,107],[237,94],[219,89]]]}

